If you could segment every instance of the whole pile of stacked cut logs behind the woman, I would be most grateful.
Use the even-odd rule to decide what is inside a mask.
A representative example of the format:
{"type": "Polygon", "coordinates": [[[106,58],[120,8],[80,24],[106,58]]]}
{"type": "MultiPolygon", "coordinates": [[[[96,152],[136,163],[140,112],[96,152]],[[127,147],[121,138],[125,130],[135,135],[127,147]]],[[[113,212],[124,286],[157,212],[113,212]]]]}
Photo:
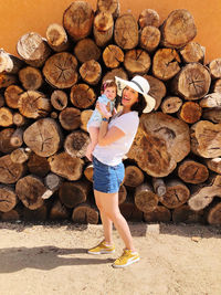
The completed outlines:
{"type": "Polygon", "coordinates": [[[221,59],[204,64],[185,9],[119,14],[117,0],[73,2],[18,56],[0,51],[0,218],[98,223],[86,124],[101,84],[139,74],[155,110],[124,159],[127,220],[221,224],[221,59]],[[161,23],[161,24],[160,24],[161,23]]]}

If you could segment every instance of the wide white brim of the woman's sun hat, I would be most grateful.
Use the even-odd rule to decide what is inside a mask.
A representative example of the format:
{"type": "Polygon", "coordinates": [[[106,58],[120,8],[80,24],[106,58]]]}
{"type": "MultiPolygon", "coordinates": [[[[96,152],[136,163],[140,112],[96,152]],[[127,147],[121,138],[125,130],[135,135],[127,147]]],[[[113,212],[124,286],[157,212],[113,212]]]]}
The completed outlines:
{"type": "Polygon", "coordinates": [[[147,106],[145,107],[143,113],[150,113],[155,108],[156,99],[154,97],[151,97],[150,95],[144,93],[135,83],[127,81],[127,80],[124,80],[124,78],[120,78],[120,77],[117,77],[117,76],[115,76],[115,81],[117,84],[117,95],[122,96],[124,88],[126,86],[129,86],[130,88],[140,93],[145,97],[147,106]]]}

